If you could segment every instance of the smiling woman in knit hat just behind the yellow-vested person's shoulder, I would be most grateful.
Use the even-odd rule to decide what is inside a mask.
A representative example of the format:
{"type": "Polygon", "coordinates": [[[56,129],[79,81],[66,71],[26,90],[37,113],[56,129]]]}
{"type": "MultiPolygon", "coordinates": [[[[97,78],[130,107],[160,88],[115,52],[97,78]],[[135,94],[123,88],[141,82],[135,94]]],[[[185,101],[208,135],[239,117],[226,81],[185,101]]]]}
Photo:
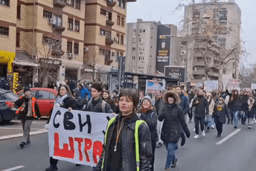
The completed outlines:
{"type": "Polygon", "coordinates": [[[154,170],[154,161],[155,161],[155,151],[156,151],[156,139],[157,139],[157,132],[156,132],[156,125],[157,125],[157,113],[153,110],[152,99],[149,96],[144,96],[141,100],[142,106],[139,109],[141,119],[145,120],[147,125],[150,128],[150,137],[152,143],[152,152],[153,158],[151,161],[151,171],[154,170]]]}

